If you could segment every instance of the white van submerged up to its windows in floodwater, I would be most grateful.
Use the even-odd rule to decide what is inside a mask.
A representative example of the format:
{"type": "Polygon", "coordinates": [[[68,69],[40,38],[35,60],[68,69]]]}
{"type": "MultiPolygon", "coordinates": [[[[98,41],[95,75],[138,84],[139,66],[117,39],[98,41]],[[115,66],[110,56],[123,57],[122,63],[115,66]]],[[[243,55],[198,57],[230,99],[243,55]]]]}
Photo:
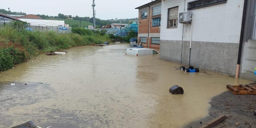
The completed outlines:
{"type": "Polygon", "coordinates": [[[127,48],[125,55],[143,56],[158,54],[154,49],[149,48],[127,48]]]}

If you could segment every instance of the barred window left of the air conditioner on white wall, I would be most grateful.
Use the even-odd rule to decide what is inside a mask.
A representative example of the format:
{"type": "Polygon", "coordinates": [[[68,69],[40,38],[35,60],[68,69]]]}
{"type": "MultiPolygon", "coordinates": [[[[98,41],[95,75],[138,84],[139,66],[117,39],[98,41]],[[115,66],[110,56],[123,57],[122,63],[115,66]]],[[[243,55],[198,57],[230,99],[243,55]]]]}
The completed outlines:
{"type": "Polygon", "coordinates": [[[168,28],[178,26],[178,9],[179,6],[168,9],[168,28]]]}

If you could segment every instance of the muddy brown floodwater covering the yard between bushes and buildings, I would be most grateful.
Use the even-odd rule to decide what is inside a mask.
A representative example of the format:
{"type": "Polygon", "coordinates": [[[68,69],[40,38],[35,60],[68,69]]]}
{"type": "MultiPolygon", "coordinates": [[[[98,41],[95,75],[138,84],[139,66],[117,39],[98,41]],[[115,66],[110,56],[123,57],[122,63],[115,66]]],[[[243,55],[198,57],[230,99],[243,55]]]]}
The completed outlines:
{"type": "Polygon", "coordinates": [[[207,70],[185,73],[159,55],[126,56],[127,47],[75,47],[0,72],[0,101],[13,98],[0,102],[0,127],[32,120],[55,128],[182,128],[208,116],[226,84],[251,83],[207,70]],[[184,95],[169,93],[173,85],[184,95]]]}

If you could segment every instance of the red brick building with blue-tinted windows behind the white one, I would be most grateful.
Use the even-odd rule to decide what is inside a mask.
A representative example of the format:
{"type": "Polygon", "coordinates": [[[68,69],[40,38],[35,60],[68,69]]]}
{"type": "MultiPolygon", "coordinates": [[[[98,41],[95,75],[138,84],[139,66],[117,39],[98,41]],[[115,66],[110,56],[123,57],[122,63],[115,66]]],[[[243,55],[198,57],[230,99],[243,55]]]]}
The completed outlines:
{"type": "Polygon", "coordinates": [[[144,47],[160,48],[161,0],[139,6],[138,42],[144,47]]]}

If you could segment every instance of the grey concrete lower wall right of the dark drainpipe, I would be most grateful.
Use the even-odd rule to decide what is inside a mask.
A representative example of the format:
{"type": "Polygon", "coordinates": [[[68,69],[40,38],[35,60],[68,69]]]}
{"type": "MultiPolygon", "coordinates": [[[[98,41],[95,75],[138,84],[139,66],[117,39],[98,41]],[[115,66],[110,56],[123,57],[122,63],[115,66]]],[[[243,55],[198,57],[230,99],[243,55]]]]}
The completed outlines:
{"type": "Polygon", "coordinates": [[[256,40],[248,40],[243,43],[241,63],[240,63],[240,78],[256,81],[254,71],[256,68],[256,40]]]}

